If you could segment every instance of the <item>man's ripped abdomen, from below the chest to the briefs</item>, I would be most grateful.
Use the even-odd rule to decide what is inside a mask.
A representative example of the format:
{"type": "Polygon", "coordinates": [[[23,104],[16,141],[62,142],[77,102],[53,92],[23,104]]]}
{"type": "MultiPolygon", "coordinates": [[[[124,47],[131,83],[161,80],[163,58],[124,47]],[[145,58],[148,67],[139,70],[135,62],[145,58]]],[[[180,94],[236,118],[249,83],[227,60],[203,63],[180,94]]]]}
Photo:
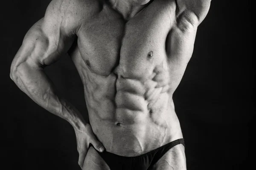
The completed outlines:
{"type": "Polygon", "coordinates": [[[164,87],[114,74],[86,77],[90,125],[106,151],[138,156],[182,138],[172,97],[164,87]]]}

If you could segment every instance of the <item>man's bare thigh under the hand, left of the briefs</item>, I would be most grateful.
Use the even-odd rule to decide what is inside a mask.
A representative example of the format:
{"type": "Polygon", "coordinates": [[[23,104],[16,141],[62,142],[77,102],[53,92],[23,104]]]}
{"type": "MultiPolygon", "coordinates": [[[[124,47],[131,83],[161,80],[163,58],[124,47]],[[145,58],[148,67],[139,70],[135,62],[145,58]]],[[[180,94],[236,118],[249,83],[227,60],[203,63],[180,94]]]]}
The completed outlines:
{"type": "Polygon", "coordinates": [[[99,153],[93,147],[90,147],[84,159],[83,170],[110,170],[110,168],[99,156],[99,153]]]}

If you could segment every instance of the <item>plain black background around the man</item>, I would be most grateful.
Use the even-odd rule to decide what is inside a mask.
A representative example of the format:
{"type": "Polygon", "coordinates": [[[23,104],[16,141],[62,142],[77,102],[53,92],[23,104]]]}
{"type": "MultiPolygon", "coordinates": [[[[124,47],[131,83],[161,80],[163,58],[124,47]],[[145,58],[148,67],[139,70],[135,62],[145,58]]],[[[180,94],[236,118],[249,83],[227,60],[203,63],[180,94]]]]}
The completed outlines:
{"type": "MultiPolygon", "coordinates": [[[[35,104],[9,78],[24,35],[44,16],[49,2],[9,0],[1,6],[0,55],[6,59],[1,64],[1,136],[6,141],[2,144],[6,170],[79,170],[71,125],[35,104]]],[[[247,169],[255,110],[251,6],[247,0],[212,0],[198,28],[192,59],[174,95],[188,170],[247,169]]],[[[46,72],[86,115],[83,86],[70,58],[64,56],[46,72]]]]}

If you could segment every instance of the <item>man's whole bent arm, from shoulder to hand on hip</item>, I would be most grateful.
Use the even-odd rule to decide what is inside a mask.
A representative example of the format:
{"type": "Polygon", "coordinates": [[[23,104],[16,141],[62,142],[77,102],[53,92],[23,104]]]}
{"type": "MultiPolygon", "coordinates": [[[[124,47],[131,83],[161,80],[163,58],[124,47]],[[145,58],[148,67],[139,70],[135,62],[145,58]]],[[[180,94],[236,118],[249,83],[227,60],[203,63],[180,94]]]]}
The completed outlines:
{"type": "Polygon", "coordinates": [[[79,22],[72,17],[76,9],[67,1],[52,0],[44,18],[29,29],[12,61],[10,77],[33,101],[74,127],[82,166],[89,143],[98,150],[102,145],[81,113],[61,97],[43,70],[70,49],[79,29],[79,22]]]}

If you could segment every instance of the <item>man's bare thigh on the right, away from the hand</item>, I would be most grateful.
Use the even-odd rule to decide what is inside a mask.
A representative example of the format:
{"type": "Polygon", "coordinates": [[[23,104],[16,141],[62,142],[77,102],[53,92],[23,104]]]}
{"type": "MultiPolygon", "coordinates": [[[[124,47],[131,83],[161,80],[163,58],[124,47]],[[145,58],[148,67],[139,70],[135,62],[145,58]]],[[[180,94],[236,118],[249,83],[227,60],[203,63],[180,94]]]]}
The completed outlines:
{"type": "Polygon", "coordinates": [[[150,170],[186,170],[185,148],[182,144],[172,147],[150,170]]]}

